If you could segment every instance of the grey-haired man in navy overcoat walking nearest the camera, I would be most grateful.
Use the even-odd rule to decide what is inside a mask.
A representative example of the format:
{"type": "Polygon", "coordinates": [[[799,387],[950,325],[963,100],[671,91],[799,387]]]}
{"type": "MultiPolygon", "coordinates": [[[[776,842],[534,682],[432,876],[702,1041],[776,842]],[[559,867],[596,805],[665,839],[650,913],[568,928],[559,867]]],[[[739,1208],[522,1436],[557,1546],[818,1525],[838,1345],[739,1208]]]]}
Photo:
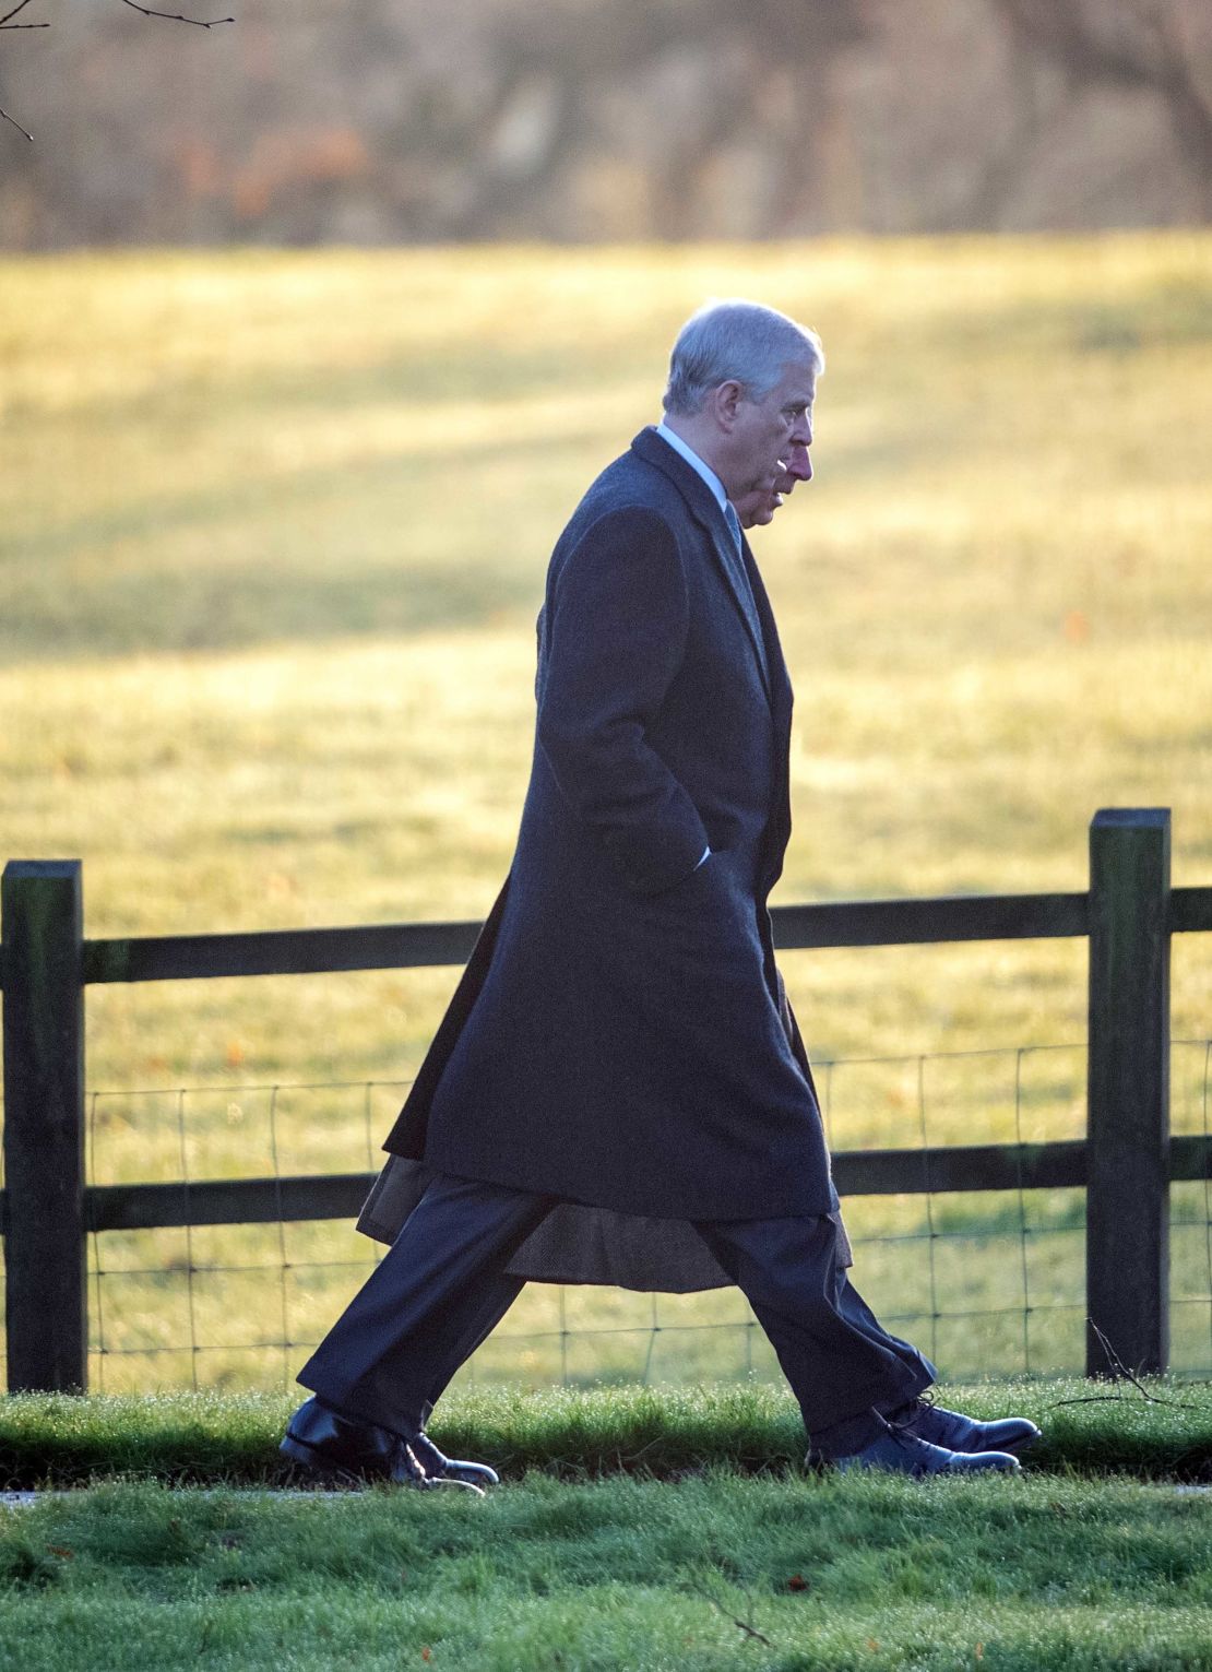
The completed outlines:
{"type": "Polygon", "coordinates": [[[774,965],[791,684],[737,507],[769,522],[811,477],[822,370],[784,314],[702,309],[664,421],[555,547],[513,866],[386,1140],[379,1195],[403,1172],[411,1212],[299,1373],[283,1450],[304,1468],[493,1480],[425,1425],[528,1276],[736,1282],[819,1461],[1013,1470],[1035,1435],[924,1401],[933,1366],[849,1282],[774,965]]]}

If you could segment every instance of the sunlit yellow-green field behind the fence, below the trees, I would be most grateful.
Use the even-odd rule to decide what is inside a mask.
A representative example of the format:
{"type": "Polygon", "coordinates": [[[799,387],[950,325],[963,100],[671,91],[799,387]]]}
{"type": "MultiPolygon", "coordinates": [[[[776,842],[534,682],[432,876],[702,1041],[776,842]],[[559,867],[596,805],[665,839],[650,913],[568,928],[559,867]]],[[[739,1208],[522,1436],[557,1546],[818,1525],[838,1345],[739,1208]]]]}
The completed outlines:
{"type": "MultiPolygon", "coordinates": [[[[829,356],[817,477],[754,538],[797,691],[776,903],[1078,890],[1115,804],[1172,808],[1175,883],[1212,883],[1204,234],[0,264],[0,858],[82,858],[94,936],[481,916],[550,547],[659,415],[680,319],[734,293],[829,356]]],[[[1082,943],[784,973],[838,1147],[1082,1134],[1082,943]]],[[[374,1165],[455,978],[92,988],[94,1177],[374,1165]]],[[[1212,936],[1175,941],[1174,1033],[1174,1124],[1204,1130],[1212,936]]],[[[859,1286],[946,1368],[1080,1366],[1080,1195],[848,1219],[859,1286]]],[[[1209,1368],[1202,1187],[1175,1219],[1175,1364],[1209,1368]]],[[[105,1386],[239,1386],[281,1383],[369,1247],[92,1257],[105,1386]]],[[[471,1374],[769,1373],[746,1319],[729,1291],[532,1289],[503,1326],[528,1339],[471,1374]]]]}

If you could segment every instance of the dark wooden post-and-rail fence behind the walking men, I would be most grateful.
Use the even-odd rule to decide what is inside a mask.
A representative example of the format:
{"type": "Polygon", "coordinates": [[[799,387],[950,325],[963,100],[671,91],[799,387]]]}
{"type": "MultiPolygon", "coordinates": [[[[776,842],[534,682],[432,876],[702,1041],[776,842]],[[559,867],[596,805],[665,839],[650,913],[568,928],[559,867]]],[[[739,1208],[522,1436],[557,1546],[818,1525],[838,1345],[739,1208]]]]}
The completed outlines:
{"type": "MultiPolygon", "coordinates": [[[[1169,1130],[1170,936],[1212,930],[1212,888],[1170,888],[1169,809],[1095,816],[1087,893],[782,906],[772,918],[781,948],[1088,936],[1085,1140],[844,1150],[836,1182],[843,1195],[1085,1187],[1087,1369],[1107,1368],[1097,1331],[1123,1364],[1165,1369],[1169,1185],[1212,1177],[1209,1140],[1172,1140],[1169,1130]]],[[[85,940],[80,863],[10,861],[0,915],[10,1391],[85,1386],[87,1232],[344,1219],[374,1177],[87,1185],[85,986],[453,965],[478,930],[406,923],[85,940]]]]}

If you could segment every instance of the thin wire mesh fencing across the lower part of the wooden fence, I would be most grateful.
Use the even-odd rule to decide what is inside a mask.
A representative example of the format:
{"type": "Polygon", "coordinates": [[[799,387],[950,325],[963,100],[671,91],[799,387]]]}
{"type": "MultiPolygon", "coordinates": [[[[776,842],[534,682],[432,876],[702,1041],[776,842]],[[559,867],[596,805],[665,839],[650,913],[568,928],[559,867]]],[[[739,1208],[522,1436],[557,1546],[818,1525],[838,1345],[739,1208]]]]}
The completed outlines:
{"type": "MultiPolygon", "coordinates": [[[[821,1062],[834,1150],[893,1149],[906,1190],[843,1202],[854,1282],[950,1378],[1080,1373],[1085,1190],[940,1190],[931,1155],[1015,1154],[1085,1135],[1085,1047],[821,1062]],[[924,1189],[913,1189],[924,1184],[924,1189]]],[[[1212,1145],[1212,1040],[1175,1040],[1172,1125],[1212,1145]]],[[[186,1221],[89,1237],[90,1386],[284,1388],[373,1269],[349,1221],[194,1224],[201,1180],[373,1172],[406,1082],[94,1092],[89,1184],[174,1180],[186,1221]]],[[[1207,1174],[1207,1167],[1204,1169],[1207,1174]]],[[[1172,1366],[1212,1371],[1212,1182],[1170,1206],[1172,1366]]],[[[736,1289],[637,1294],[530,1284],[463,1381],[702,1383],[776,1378],[736,1289]]]]}

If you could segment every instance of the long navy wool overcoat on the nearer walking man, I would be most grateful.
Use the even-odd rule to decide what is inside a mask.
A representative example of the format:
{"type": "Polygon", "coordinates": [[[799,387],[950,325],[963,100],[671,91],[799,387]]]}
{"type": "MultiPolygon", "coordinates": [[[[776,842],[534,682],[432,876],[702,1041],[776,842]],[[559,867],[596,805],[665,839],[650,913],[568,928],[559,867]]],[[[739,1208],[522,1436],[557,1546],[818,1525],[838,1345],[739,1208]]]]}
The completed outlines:
{"type": "Polygon", "coordinates": [[[695,1289],[690,1221],[838,1207],[766,910],[791,701],[747,547],[644,430],[552,557],[513,866],[363,1229],[450,1172],[567,1204],[520,1276],[695,1289]]]}

